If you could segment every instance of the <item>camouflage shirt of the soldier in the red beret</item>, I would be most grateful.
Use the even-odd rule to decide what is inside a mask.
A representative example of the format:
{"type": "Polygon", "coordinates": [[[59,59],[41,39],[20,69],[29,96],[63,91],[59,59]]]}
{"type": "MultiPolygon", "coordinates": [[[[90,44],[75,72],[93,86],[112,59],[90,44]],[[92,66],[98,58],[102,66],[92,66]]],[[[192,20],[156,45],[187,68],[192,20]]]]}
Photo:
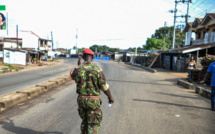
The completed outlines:
{"type": "Polygon", "coordinates": [[[109,85],[106,83],[101,68],[94,64],[81,64],[72,72],[72,77],[77,84],[77,93],[81,95],[99,95],[106,91],[109,85]]]}

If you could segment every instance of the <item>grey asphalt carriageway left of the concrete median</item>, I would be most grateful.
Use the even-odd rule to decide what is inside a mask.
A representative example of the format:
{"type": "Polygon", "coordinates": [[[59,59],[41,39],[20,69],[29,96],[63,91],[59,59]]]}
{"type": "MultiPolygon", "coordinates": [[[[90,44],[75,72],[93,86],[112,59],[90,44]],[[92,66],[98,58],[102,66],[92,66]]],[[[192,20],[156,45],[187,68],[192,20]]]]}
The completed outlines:
{"type": "Polygon", "coordinates": [[[68,74],[75,65],[77,59],[65,58],[62,64],[56,66],[0,75],[0,96],[68,74]]]}

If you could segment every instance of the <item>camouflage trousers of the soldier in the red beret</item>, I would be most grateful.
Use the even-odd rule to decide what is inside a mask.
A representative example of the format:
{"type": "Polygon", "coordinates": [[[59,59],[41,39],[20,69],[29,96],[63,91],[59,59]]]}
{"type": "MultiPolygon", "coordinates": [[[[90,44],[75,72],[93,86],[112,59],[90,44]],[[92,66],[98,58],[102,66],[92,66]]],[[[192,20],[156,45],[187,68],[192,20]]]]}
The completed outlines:
{"type": "Polygon", "coordinates": [[[101,99],[78,96],[77,101],[82,134],[98,134],[102,121],[101,99]]]}

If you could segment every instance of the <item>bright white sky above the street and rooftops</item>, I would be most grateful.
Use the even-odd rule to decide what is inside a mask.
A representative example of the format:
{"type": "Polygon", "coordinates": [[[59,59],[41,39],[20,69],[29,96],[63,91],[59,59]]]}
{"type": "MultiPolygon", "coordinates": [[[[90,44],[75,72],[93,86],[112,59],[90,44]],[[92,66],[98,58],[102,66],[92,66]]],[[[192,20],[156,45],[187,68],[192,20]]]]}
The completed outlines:
{"type": "MultiPolygon", "coordinates": [[[[78,47],[93,44],[126,49],[145,44],[155,29],[173,25],[174,0],[1,0],[9,18],[9,36],[30,30],[50,38],[54,47],[72,48],[78,29],[78,47]],[[59,43],[56,46],[57,42],[59,43]]],[[[190,13],[203,17],[215,12],[214,0],[193,0],[190,13]],[[206,11],[207,10],[207,11],[206,11]]],[[[178,4],[177,15],[186,13],[187,5],[178,4]]],[[[192,21],[194,18],[190,18],[192,21]]],[[[177,18],[177,21],[184,21],[177,18]]],[[[179,24],[179,23],[178,23],[179,24]]]]}

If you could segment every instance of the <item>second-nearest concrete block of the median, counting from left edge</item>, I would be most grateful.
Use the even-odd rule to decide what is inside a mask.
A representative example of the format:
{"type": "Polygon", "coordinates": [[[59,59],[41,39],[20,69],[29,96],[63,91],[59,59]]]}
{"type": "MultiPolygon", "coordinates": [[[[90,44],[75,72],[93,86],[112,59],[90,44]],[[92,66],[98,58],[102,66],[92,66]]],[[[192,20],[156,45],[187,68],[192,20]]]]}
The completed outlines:
{"type": "Polygon", "coordinates": [[[20,91],[16,91],[16,93],[27,94],[29,99],[36,97],[36,96],[42,94],[43,92],[45,92],[45,87],[39,87],[39,86],[38,87],[32,86],[32,87],[28,87],[28,88],[25,88],[20,91]]]}

